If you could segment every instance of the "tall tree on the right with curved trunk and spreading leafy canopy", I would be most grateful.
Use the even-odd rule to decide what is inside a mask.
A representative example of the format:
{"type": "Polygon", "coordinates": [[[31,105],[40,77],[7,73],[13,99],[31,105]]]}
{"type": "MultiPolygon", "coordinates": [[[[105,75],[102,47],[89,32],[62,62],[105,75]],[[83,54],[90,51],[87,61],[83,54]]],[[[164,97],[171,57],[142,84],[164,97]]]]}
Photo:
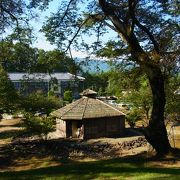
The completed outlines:
{"type": "MultiPolygon", "coordinates": [[[[61,2],[58,12],[43,27],[48,40],[68,50],[77,45],[75,39],[82,38],[80,33],[92,35],[90,29],[98,37],[91,46],[94,51],[94,45],[102,42],[103,33],[117,33],[120,48],[131,56],[128,61],[139,64],[149,79],[153,109],[145,137],[159,155],[171,150],[164,124],[166,98],[161,65],[167,54],[178,51],[177,12],[178,4],[173,0],[69,0],[61,2]],[[82,2],[87,6],[82,6],[82,2]]],[[[81,45],[84,44],[87,43],[82,41],[81,45]]]]}

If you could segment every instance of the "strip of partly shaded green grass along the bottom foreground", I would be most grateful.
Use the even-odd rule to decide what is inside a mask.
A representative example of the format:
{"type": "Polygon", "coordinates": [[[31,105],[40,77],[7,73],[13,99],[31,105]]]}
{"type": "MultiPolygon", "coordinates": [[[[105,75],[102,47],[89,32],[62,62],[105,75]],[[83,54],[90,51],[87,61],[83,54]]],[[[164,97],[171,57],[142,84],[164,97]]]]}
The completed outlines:
{"type": "MultiPolygon", "coordinates": [[[[163,163],[163,162],[162,162],[163,163]]],[[[158,168],[150,161],[113,159],[95,162],[69,162],[61,166],[0,173],[0,179],[180,179],[178,168],[158,168]]]]}

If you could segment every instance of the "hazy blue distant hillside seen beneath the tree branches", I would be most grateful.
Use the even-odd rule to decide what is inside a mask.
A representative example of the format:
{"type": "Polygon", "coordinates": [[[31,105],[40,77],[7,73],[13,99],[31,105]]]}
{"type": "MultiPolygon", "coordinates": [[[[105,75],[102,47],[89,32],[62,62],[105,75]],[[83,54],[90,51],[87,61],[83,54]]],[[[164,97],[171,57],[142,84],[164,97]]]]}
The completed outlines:
{"type": "Polygon", "coordinates": [[[76,59],[76,62],[79,63],[81,68],[84,71],[88,72],[101,72],[101,71],[108,71],[110,69],[110,66],[107,61],[105,60],[86,60],[82,58],[76,59]]]}

